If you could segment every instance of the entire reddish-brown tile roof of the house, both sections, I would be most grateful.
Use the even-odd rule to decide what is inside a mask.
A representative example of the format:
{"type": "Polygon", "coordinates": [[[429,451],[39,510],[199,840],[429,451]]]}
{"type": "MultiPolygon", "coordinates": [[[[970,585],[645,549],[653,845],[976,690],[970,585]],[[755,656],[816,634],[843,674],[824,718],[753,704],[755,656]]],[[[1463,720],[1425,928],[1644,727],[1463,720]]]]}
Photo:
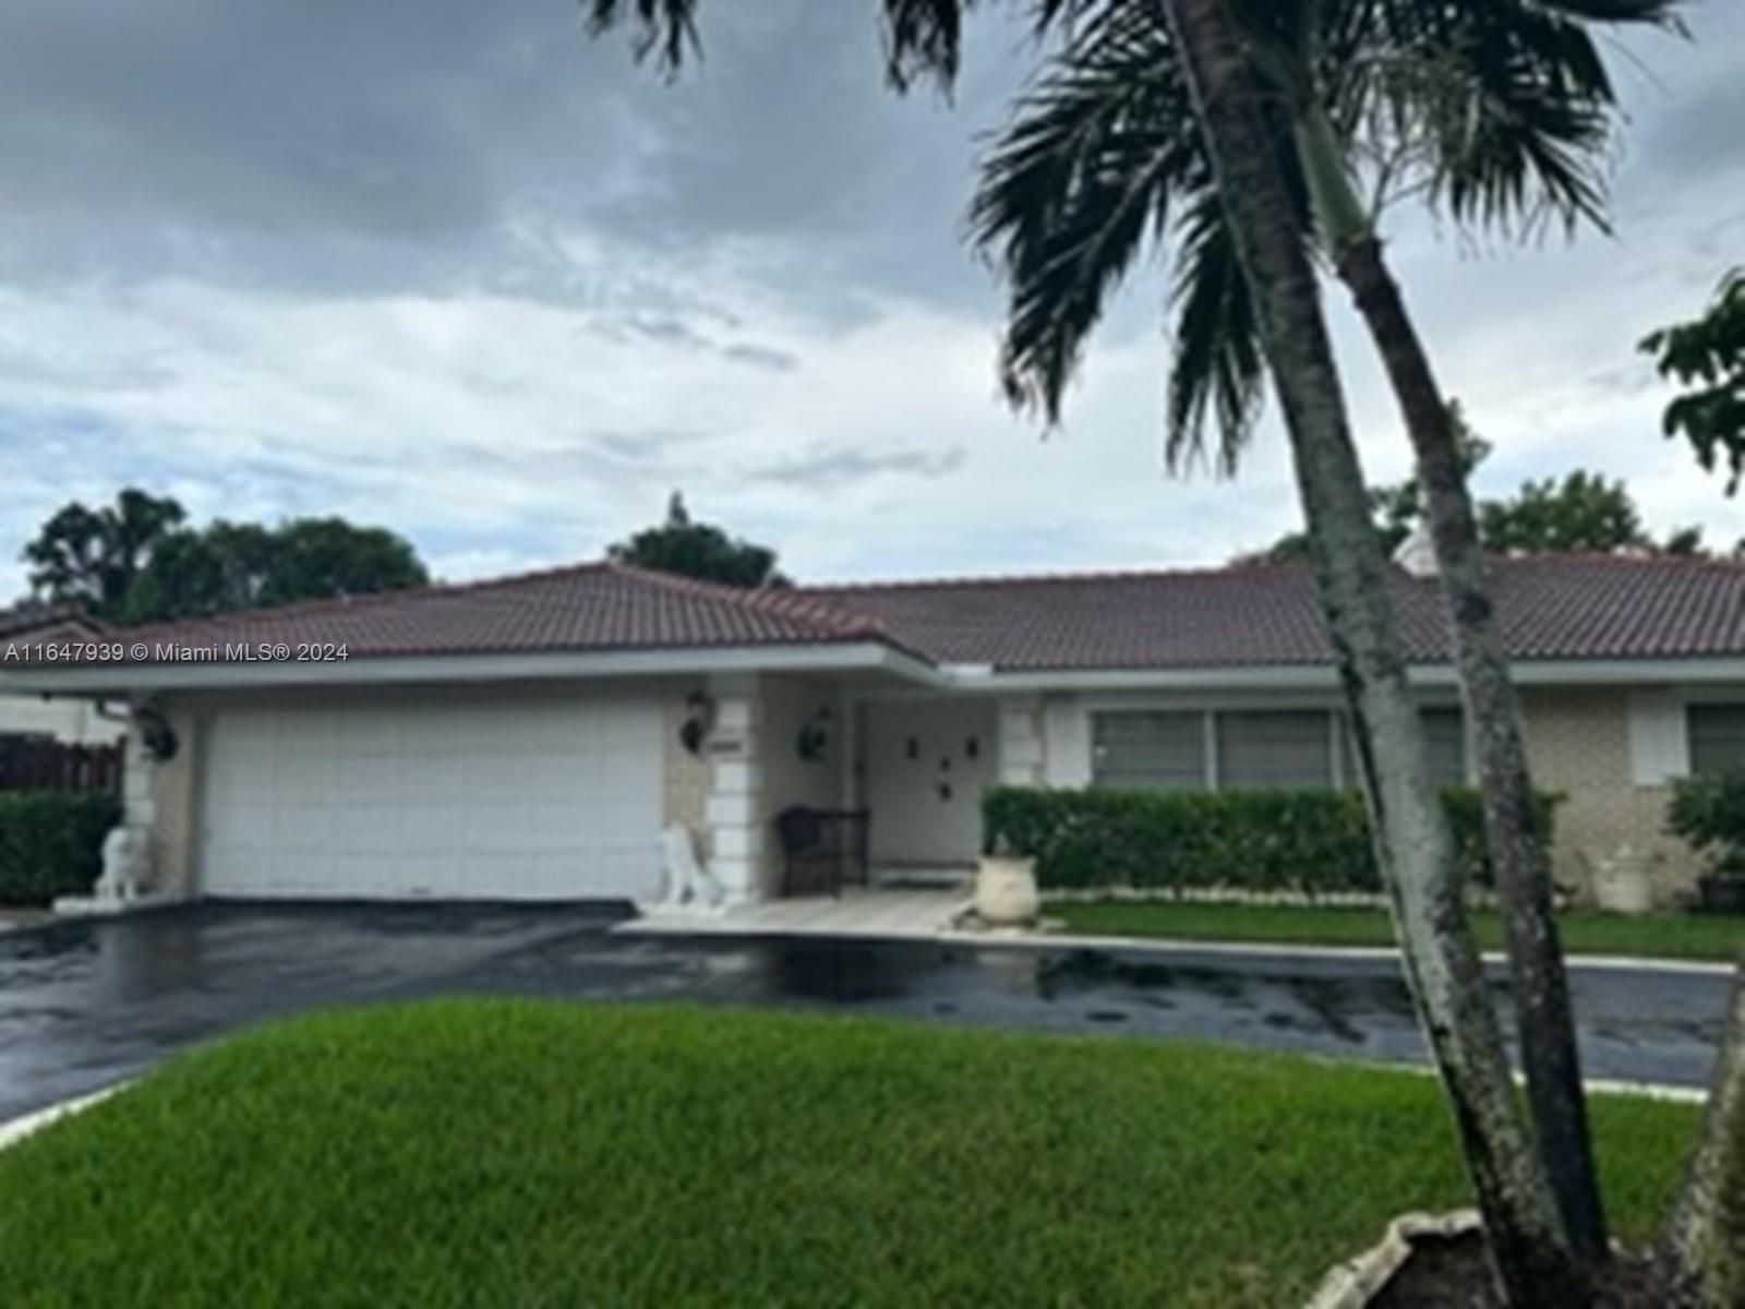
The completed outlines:
{"type": "MultiPolygon", "coordinates": [[[[1516,660],[1745,656],[1745,565],[1564,555],[1492,564],[1516,660]]],[[[1445,661],[1434,579],[1394,571],[1415,661],[1445,661]]],[[[339,642],[352,658],[878,641],[1010,670],[1330,661],[1307,567],[871,583],[745,592],[623,564],[122,628],[131,642],[339,642]]]]}

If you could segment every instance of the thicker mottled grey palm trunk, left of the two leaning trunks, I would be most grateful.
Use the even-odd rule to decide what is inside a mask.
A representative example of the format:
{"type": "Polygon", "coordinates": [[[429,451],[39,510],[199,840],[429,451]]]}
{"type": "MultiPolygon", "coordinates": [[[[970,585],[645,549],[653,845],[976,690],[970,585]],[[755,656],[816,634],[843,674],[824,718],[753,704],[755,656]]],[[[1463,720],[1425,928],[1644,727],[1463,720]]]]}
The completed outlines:
{"type": "Polygon", "coordinates": [[[1581,1309],[1591,1302],[1584,1271],[1529,1148],[1466,922],[1447,819],[1406,686],[1387,562],[1370,529],[1314,269],[1276,141],[1260,119],[1253,73],[1225,0],[1153,3],[1188,68],[1220,195],[1255,291],[1406,977],[1454,1110],[1490,1253],[1509,1304],[1581,1309]]]}

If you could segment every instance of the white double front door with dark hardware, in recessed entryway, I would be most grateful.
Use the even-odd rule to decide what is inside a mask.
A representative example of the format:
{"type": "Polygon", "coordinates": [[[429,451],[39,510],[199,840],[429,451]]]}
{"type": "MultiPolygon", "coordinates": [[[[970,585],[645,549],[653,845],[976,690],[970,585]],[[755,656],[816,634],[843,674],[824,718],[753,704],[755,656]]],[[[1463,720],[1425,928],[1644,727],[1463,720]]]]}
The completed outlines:
{"type": "Polygon", "coordinates": [[[991,700],[867,705],[862,764],[876,864],[975,860],[982,791],[998,777],[995,723],[991,700]]]}

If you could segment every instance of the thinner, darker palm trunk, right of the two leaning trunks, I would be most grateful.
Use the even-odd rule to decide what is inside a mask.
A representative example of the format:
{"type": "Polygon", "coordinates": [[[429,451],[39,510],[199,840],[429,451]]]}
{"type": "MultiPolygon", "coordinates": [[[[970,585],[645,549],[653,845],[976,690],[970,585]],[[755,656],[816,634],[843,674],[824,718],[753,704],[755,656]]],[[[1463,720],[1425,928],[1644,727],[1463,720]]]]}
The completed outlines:
{"type": "Polygon", "coordinates": [[[1335,253],[1335,267],[1375,339],[1417,452],[1461,691],[1478,744],[1485,836],[1508,935],[1527,1101],[1570,1244],[1579,1258],[1595,1264],[1607,1253],[1605,1215],[1551,904],[1551,859],[1536,822],[1520,703],[1490,604],[1485,555],[1448,405],[1382,258],[1380,241],[1365,232],[1344,243],[1335,253]]]}

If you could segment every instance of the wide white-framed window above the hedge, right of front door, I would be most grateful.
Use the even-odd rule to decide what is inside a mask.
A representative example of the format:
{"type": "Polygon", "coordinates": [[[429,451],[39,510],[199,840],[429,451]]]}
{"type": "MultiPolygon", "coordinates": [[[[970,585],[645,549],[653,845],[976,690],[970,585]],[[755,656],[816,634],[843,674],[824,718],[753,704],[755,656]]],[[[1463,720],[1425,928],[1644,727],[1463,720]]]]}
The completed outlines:
{"type": "MultiPolygon", "coordinates": [[[[1459,709],[1426,709],[1438,785],[1466,782],[1459,709]]],[[[1335,709],[1120,709],[1091,716],[1091,784],[1103,787],[1314,789],[1358,785],[1345,716],[1335,709]]]]}

